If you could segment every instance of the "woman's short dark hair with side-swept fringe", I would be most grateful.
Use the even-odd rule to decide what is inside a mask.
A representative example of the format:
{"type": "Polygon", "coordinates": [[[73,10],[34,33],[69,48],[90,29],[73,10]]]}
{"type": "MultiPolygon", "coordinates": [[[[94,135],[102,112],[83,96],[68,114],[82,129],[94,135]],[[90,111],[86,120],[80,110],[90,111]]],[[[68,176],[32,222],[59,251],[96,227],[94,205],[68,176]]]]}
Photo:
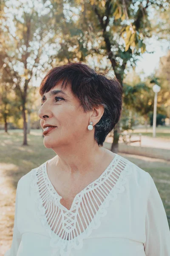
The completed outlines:
{"type": "Polygon", "coordinates": [[[96,73],[82,62],[71,62],[48,71],[40,84],[40,95],[50,91],[59,81],[62,81],[62,87],[65,84],[65,89],[71,85],[72,93],[79,99],[84,112],[99,105],[104,107],[102,118],[94,125],[94,139],[102,146],[122,112],[122,85],[115,77],[96,73]]]}

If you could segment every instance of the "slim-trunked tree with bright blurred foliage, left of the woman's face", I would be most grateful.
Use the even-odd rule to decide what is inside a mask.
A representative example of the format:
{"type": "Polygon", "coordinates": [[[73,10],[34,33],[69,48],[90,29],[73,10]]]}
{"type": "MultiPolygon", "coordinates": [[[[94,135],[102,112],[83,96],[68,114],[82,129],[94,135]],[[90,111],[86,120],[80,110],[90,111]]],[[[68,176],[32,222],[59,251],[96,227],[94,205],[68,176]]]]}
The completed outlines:
{"type": "MultiPolygon", "coordinates": [[[[40,1],[5,1],[6,6],[1,17],[0,48],[3,49],[3,61],[13,75],[13,86],[20,96],[23,116],[23,145],[27,145],[26,102],[31,80],[49,68],[51,58],[51,19],[49,8],[40,1]],[[14,12],[15,11],[15,12],[14,12]],[[14,14],[15,13],[15,14],[14,14]],[[2,22],[3,21],[3,22],[2,22]]],[[[53,35],[52,35],[53,36],[53,35]]]]}

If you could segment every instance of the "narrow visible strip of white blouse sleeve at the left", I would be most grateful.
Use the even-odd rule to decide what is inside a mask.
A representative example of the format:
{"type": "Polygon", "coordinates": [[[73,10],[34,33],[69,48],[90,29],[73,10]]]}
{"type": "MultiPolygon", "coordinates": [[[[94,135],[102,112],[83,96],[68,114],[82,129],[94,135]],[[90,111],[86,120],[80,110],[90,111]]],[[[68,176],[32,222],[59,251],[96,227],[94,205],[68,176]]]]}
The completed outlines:
{"type": "MultiPolygon", "coordinates": [[[[18,182],[19,184],[19,182],[18,182]]],[[[21,235],[17,228],[17,211],[18,211],[18,184],[15,198],[15,217],[14,217],[14,229],[13,229],[13,239],[11,248],[6,251],[4,256],[17,256],[17,250],[20,245],[21,235]]]]}

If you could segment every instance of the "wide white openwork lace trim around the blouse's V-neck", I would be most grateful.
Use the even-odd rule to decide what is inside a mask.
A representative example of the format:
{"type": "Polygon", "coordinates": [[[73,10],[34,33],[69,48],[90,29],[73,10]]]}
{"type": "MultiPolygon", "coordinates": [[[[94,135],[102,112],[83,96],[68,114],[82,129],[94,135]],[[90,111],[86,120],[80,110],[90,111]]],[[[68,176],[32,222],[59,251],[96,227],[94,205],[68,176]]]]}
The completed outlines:
{"type": "MultiPolygon", "coordinates": [[[[129,161],[116,154],[102,175],[100,175],[98,179],[90,183],[85,189],[77,194],[77,196],[74,198],[71,209],[68,210],[67,208],[62,207],[62,204],[59,202],[62,197],[54,189],[54,186],[48,178],[47,172],[45,172],[46,163],[47,161],[41,166],[32,170],[31,188],[34,190],[35,202],[38,205],[38,214],[41,222],[51,237],[50,245],[53,248],[52,255],[56,256],[56,253],[59,251],[61,256],[69,256],[72,248],[77,250],[81,249],[83,246],[83,239],[90,236],[92,231],[100,226],[100,218],[107,214],[106,208],[109,206],[109,202],[115,201],[118,197],[117,194],[125,191],[124,185],[127,182],[127,175],[130,175],[132,171],[130,168],[128,168],[129,161]],[[118,178],[115,178],[115,175],[118,178]],[[101,188],[100,190],[99,187],[101,188]],[[107,190],[109,191],[108,194],[107,190]],[[91,221],[88,221],[89,224],[87,224],[87,219],[89,220],[89,216],[91,215],[89,210],[86,211],[87,219],[86,221],[84,219],[86,223],[84,226],[86,226],[86,228],[84,228],[81,217],[79,217],[79,209],[83,215],[84,213],[82,212],[80,205],[82,204],[82,208],[85,212],[85,203],[83,204],[83,202],[85,202],[88,197],[90,198],[90,192],[91,194],[94,193],[95,195],[93,199],[95,199],[98,209],[93,218],[91,218],[91,221]],[[51,207],[49,207],[50,203],[52,205],[51,207]],[[47,208],[45,208],[45,205],[47,208]],[[52,209],[53,214],[51,214],[51,216],[49,214],[48,207],[52,209]],[[62,227],[61,231],[59,228],[59,231],[57,230],[57,232],[60,232],[59,235],[57,232],[55,233],[55,229],[52,230],[51,228],[51,223],[55,216],[58,218],[56,222],[59,223],[59,227],[62,227]],[[82,232],[81,227],[77,222],[78,217],[83,228],[82,232]],[[71,222],[73,225],[71,225],[71,222]],[[62,238],[63,235],[64,239],[62,238]]],[[[91,200],[90,202],[92,204],[91,200]]],[[[94,202],[93,207],[95,207],[94,202]]],[[[86,208],[88,209],[87,204],[86,208]]]]}

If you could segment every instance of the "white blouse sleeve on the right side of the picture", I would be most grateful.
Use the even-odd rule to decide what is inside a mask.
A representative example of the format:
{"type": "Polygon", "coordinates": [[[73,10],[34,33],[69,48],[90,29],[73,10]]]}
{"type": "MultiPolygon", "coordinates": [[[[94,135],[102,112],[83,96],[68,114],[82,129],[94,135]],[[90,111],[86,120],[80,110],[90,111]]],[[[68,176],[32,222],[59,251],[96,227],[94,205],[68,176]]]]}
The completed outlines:
{"type": "Polygon", "coordinates": [[[145,254],[146,256],[170,256],[170,229],[167,215],[153,178],[149,173],[148,176],[149,195],[145,218],[145,254]]]}

